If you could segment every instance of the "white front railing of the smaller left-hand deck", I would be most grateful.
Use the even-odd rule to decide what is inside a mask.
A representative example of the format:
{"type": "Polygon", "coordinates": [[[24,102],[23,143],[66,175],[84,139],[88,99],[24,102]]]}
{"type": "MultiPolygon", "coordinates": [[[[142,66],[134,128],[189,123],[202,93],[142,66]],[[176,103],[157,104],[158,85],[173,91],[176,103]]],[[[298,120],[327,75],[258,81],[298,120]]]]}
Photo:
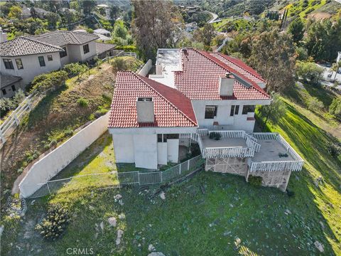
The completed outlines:
{"type": "Polygon", "coordinates": [[[254,150],[254,148],[243,148],[235,146],[205,148],[202,151],[202,158],[252,157],[254,156],[254,150]]]}

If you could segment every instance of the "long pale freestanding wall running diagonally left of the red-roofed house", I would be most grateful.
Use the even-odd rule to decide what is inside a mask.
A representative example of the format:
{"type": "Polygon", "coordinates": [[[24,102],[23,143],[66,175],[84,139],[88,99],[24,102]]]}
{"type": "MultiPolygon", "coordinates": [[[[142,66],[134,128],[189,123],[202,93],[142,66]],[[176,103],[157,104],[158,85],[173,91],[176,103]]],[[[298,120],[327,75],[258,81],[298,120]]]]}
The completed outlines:
{"type": "Polygon", "coordinates": [[[107,131],[109,113],[95,120],[80,132],[58,146],[42,159],[33,164],[19,184],[21,196],[24,198],[40,188],[45,183],[70,164],[82,151],[87,149],[99,136],[107,131]]]}

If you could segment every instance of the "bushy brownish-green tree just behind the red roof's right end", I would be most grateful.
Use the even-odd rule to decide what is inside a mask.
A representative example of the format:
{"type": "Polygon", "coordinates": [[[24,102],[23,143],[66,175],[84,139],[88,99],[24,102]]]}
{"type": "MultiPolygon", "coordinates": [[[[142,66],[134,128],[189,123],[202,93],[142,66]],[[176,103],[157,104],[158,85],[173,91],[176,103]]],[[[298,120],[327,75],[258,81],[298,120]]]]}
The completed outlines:
{"type": "Polygon", "coordinates": [[[252,41],[249,63],[268,81],[266,90],[280,92],[293,86],[295,47],[291,36],[274,29],[252,41]]]}

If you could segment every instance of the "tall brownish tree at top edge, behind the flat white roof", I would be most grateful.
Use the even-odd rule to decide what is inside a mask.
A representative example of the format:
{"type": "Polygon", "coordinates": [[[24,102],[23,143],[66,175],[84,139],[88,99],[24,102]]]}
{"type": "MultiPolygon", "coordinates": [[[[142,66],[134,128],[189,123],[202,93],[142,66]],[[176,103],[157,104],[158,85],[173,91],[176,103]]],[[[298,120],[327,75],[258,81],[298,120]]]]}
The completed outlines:
{"type": "Polygon", "coordinates": [[[132,28],[139,53],[145,59],[154,59],[158,48],[173,46],[173,18],[178,14],[178,9],[171,1],[134,0],[132,4],[132,28]]]}

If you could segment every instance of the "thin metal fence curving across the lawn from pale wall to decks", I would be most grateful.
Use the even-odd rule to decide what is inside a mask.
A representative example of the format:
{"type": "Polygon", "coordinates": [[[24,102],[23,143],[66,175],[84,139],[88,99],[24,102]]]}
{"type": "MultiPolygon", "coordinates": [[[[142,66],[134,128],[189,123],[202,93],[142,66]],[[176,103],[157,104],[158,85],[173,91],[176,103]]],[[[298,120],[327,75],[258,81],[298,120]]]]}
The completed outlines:
{"type": "Polygon", "coordinates": [[[194,171],[203,164],[202,156],[195,156],[188,161],[180,163],[176,166],[167,169],[166,171],[127,171],[117,172],[112,171],[104,174],[85,174],[80,176],[72,176],[70,178],[62,178],[58,180],[48,181],[45,183],[34,184],[40,187],[36,192],[28,196],[28,198],[39,198],[48,196],[57,192],[67,192],[82,188],[101,188],[101,187],[116,187],[122,185],[151,185],[172,181],[174,178],[179,178],[194,171]],[[82,179],[86,182],[82,182],[82,179]]]}

